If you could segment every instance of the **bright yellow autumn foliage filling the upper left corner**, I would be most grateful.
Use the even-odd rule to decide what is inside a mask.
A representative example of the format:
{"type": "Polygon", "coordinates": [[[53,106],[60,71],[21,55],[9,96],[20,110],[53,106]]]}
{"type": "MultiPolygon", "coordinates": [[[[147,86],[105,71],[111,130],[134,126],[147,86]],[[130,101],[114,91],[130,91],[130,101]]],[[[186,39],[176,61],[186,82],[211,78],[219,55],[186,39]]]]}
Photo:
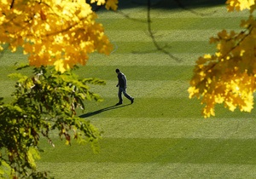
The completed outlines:
{"type": "MultiPolygon", "coordinates": [[[[91,3],[115,10],[118,0],[91,3]]],[[[13,52],[23,47],[31,66],[65,72],[94,51],[109,55],[113,49],[96,17],[84,0],[1,0],[0,45],[8,43],[13,52]]]]}

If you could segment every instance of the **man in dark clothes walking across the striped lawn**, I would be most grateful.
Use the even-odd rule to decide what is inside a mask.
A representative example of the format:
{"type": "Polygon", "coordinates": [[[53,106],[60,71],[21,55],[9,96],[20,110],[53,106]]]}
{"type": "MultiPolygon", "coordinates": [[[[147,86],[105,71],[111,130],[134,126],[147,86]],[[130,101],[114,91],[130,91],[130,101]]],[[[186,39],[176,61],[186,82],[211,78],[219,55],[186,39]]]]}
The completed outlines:
{"type": "Polygon", "coordinates": [[[118,79],[119,79],[119,83],[116,85],[116,87],[119,87],[119,103],[117,103],[116,105],[123,104],[122,93],[125,95],[127,99],[131,101],[131,104],[132,104],[134,101],[134,98],[131,97],[131,95],[128,95],[126,93],[127,80],[126,80],[125,74],[120,72],[119,69],[116,69],[115,72],[118,74],[118,79]]]}

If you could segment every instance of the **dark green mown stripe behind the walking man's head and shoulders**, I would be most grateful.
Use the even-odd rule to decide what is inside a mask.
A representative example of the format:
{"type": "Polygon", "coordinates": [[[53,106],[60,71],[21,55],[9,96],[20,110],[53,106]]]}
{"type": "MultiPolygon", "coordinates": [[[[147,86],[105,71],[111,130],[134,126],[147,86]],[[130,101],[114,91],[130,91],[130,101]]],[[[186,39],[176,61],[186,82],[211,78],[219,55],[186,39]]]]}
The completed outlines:
{"type": "Polygon", "coordinates": [[[77,73],[81,74],[83,78],[102,78],[108,83],[108,80],[117,80],[116,68],[125,73],[129,83],[132,80],[189,81],[193,74],[194,66],[133,66],[132,64],[127,66],[84,66],[77,70],[77,73]]]}

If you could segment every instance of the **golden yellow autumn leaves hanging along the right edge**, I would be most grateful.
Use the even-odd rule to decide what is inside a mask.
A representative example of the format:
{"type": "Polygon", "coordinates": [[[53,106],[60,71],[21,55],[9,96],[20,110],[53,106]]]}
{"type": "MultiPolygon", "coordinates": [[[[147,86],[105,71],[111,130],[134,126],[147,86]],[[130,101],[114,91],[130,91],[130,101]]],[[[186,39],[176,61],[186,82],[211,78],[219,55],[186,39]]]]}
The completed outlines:
{"type": "Polygon", "coordinates": [[[241,32],[218,32],[210,38],[217,43],[214,55],[204,55],[196,61],[194,76],[190,80],[189,97],[201,98],[205,118],[214,116],[214,107],[224,103],[224,107],[234,111],[251,112],[253,93],[256,90],[256,20],[253,11],[254,0],[228,0],[227,9],[232,11],[249,9],[250,16],[241,20],[241,32]]]}

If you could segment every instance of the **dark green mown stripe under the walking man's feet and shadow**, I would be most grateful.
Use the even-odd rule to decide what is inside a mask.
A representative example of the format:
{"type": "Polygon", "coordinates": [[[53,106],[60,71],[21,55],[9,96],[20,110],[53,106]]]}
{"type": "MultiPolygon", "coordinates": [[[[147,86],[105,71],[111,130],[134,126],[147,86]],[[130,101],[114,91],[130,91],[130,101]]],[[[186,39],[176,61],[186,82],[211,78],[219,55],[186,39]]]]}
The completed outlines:
{"type": "MultiPolygon", "coordinates": [[[[86,101],[85,111],[79,112],[79,115],[90,118],[108,118],[109,116],[115,118],[201,118],[202,105],[197,99],[190,100],[189,97],[166,97],[166,98],[137,98],[136,95],[130,93],[135,97],[135,101],[130,105],[130,101],[124,98],[123,106],[113,107],[118,101],[116,97],[104,98],[104,101],[96,103],[94,101],[86,101]],[[107,110],[106,110],[107,108],[107,110]],[[108,109],[109,108],[109,109],[108,109]]],[[[165,94],[163,94],[165,95],[165,94]]],[[[241,113],[239,110],[231,113],[224,105],[217,105],[216,114],[218,118],[254,118],[256,111],[252,113],[241,113]]],[[[212,117],[213,118],[213,117],[212,117]]]]}

